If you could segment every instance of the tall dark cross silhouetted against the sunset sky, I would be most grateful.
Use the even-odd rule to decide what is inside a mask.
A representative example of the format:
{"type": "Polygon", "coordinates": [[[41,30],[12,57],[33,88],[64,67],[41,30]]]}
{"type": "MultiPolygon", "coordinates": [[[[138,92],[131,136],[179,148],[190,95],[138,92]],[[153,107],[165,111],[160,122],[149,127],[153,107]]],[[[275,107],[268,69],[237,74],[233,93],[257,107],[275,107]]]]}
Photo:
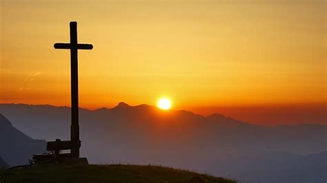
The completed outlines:
{"type": "Polygon", "coordinates": [[[77,43],[77,22],[70,22],[70,43],[55,43],[55,49],[70,50],[70,82],[71,82],[71,106],[72,116],[70,126],[70,153],[72,157],[79,158],[79,78],[78,78],[78,61],[77,50],[92,50],[91,44],[77,43]]]}

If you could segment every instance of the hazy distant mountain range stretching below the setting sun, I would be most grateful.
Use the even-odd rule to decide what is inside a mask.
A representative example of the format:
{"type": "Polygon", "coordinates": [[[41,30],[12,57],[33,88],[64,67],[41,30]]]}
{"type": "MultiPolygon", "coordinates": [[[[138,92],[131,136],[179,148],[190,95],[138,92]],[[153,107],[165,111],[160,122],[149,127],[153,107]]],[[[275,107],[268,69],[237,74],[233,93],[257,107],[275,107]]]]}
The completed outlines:
{"type": "MultiPolygon", "coordinates": [[[[32,138],[70,138],[69,107],[1,104],[0,113],[32,138]]],[[[80,109],[79,119],[81,155],[91,163],[160,164],[244,182],[273,182],[270,171],[275,180],[283,177],[286,182],[298,182],[292,177],[297,173],[326,180],[321,171],[306,173],[301,170],[308,164],[295,163],[327,150],[326,125],[262,127],[221,114],[201,116],[126,103],[111,109],[80,109]],[[284,172],[285,166],[292,175],[284,172]]],[[[313,157],[309,164],[326,160],[313,157]]]]}

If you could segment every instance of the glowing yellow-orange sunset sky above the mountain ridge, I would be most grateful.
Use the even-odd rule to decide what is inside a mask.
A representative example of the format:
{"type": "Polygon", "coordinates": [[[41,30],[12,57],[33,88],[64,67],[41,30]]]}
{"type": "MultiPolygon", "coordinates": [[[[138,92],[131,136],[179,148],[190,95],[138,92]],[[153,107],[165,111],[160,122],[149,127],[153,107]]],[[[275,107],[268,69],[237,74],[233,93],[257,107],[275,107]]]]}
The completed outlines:
{"type": "Polygon", "coordinates": [[[0,5],[0,103],[70,105],[70,52],[53,44],[68,42],[77,21],[79,43],[94,46],[79,51],[80,107],[166,96],[197,114],[327,122],[326,1],[0,5]]]}

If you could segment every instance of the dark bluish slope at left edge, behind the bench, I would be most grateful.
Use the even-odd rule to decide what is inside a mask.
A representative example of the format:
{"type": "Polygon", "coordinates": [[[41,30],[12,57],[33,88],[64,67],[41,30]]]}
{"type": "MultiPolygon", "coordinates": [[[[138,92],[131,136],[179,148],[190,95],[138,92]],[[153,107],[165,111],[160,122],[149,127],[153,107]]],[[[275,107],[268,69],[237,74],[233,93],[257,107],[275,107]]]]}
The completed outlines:
{"type": "Polygon", "coordinates": [[[0,156],[10,166],[26,164],[34,153],[43,153],[45,150],[45,140],[26,136],[0,114],[0,156]]]}

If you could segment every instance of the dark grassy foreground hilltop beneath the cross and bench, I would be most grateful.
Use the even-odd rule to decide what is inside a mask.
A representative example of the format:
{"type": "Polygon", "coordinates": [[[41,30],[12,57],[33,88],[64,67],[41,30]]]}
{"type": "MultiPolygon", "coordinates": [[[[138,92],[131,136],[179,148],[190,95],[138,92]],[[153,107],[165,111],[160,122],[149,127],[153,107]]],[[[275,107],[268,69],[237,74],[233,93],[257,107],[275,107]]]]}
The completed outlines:
{"type": "Polygon", "coordinates": [[[1,171],[0,182],[235,182],[166,168],[141,165],[63,165],[46,164],[30,169],[1,171]]]}

